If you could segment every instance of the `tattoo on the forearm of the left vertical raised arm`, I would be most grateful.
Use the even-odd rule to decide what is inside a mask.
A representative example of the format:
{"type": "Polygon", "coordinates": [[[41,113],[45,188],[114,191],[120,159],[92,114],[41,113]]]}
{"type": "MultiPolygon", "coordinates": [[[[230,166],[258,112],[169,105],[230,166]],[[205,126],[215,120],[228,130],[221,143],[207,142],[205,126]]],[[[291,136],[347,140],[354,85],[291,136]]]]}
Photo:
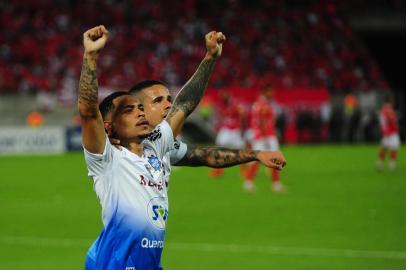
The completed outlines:
{"type": "Polygon", "coordinates": [[[98,82],[94,59],[83,58],[82,71],[79,80],[79,103],[89,107],[98,106],[98,82]]]}

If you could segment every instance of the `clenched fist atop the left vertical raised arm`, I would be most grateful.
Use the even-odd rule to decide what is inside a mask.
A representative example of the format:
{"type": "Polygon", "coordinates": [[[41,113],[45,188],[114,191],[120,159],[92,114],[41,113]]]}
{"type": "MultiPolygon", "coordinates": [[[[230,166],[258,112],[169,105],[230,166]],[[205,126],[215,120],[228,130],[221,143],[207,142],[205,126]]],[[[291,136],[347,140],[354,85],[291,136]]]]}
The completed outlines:
{"type": "Polygon", "coordinates": [[[97,54],[106,45],[109,32],[103,25],[93,27],[83,34],[85,53],[97,54]]]}

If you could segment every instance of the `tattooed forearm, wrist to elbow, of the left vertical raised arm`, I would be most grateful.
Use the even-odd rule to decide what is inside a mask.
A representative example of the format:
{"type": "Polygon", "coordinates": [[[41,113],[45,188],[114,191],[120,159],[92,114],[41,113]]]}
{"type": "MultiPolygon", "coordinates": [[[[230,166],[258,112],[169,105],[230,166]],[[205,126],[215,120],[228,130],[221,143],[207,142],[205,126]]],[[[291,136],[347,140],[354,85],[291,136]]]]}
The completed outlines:
{"type": "Polygon", "coordinates": [[[97,56],[83,55],[79,80],[78,108],[81,117],[96,117],[98,114],[98,82],[96,74],[97,56]]]}

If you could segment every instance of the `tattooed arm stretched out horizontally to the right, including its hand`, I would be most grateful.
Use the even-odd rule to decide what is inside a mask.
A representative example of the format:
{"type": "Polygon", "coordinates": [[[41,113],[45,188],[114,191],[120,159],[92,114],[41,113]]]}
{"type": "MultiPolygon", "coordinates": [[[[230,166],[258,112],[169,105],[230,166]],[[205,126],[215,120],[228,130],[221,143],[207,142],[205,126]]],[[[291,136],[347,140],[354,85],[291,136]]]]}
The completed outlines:
{"type": "Polygon", "coordinates": [[[282,170],[286,159],[279,151],[233,150],[223,147],[188,147],[175,166],[208,166],[226,168],[251,161],[260,161],[269,168],[282,170]]]}

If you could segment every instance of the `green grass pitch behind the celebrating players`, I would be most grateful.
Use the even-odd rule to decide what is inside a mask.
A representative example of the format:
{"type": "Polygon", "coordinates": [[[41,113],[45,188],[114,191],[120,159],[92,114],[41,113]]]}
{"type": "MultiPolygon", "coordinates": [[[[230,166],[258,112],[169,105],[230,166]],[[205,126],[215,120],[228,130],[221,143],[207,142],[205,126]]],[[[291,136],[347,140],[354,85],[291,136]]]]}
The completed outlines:
{"type": "MultiPolygon", "coordinates": [[[[164,269],[406,269],[406,149],[375,170],[377,146],[288,146],[285,194],[178,168],[164,269]]],[[[0,157],[0,269],[83,269],[101,230],[82,153],[0,157]]]]}

